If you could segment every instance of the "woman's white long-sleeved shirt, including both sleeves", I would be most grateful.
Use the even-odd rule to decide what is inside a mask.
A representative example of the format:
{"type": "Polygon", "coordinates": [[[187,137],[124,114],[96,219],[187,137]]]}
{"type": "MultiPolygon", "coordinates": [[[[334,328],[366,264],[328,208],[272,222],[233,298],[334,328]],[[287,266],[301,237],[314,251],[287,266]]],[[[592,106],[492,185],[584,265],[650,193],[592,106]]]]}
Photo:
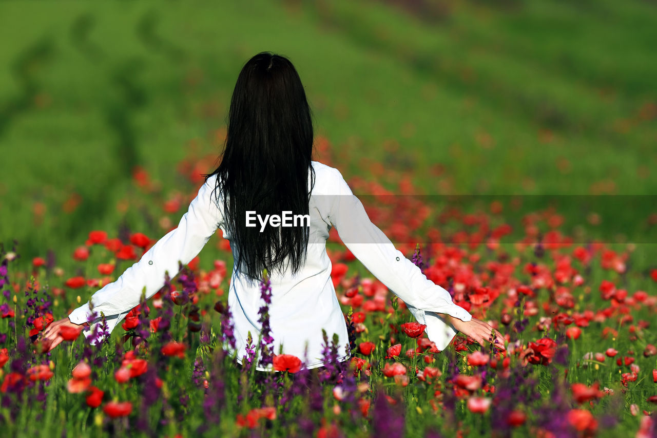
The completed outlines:
{"type": "MultiPolygon", "coordinates": [[[[426,324],[426,334],[436,347],[445,349],[457,331],[440,314],[449,314],[463,321],[469,321],[472,316],[451,301],[449,292],[428,280],[411,260],[395,249],[390,239],[369,220],[365,208],[336,168],[316,161],[312,166],[315,185],[309,203],[306,263],[296,276],[270,273],[269,316],[274,352],[278,354],[282,344],[284,354],[294,354],[305,360],[307,343],[307,368],[322,366],[322,329],[325,329],[329,340],[334,333],[338,334],[338,359],[349,356],[346,322],[330,278],[331,261],[325,246],[332,226],[365,268],[404,301],[420,324],[426,324]]],[[[98,314],[104,313],[110,331],[139,304],[143,287],[146,287],[147,298],[160,290],[164,285],[164,272],[168,270],[173,278],[179,272],[178,261],[189,263],[214,235],[217,225],[224,237],[231,241],[224,228],[221,208],[211,196],[216,178],[213,175],[200,187],[175,230],[164,235],[116,281],[93,294],[94,310],[98,314]]],[[[308,181],[310,183],[310,179],[308,181]]],[[[244,220],[246,223],[246,213],[244,220]]],[[[258,220],[256,224],[260,227],[258,220]]],[[[231,241],[234,254],[236,246],[231,241]]],[[[258,283],[244,280],[233,270],[228,304],[233,314],[240,362],[246,354],[248,331],[256,342],[260,333],[258,310],[263,302],[258,283]]],[[[69,318],[71,322],[82,324],[89,319],[89,314],[89,304],[85,303],[73,310],[69,318]]],[[[99,323],[94,322],[84,329],[86,337],[95,324],[99,323]]],[[[258,370],[264,369],[258,367],[258,370]]]]}

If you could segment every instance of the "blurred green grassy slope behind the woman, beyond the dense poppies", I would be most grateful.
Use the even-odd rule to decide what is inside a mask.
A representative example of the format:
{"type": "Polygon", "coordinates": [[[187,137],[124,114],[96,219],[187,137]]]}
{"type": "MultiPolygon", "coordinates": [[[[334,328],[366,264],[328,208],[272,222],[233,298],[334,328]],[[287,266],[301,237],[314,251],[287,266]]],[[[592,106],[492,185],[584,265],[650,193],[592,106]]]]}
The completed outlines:
{"type": "Polygon", "coordinates": [[[273,51],[348,178],[380,162],[430,195],[614,196],[602,238],[654,251],[657,203],[623,196],[657,193],[655,22],[648,1],[1,1],[0,241],[159,237],[116,209],[131,170],[189,190],[177,163],[221,151],[240,68],[273,51]]]}

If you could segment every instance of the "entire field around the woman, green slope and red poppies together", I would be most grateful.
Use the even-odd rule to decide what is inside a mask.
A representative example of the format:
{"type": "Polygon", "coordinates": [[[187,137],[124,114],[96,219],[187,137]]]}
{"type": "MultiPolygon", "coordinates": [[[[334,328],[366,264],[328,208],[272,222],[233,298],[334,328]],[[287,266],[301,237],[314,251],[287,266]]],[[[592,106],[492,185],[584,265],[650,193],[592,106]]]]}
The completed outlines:
{"type": "Polygon", "coordinates": [[[0,2],[1,436],[657,436],[654,2],[24,3],[0,2]],[[263,278],[240,366],[217,231],[110,336],[45,352],[175,228],[263,50],[315,159],[505,351],[438,351],[332,231],[350,339],[321,371],[273,351],[263,278]]]}

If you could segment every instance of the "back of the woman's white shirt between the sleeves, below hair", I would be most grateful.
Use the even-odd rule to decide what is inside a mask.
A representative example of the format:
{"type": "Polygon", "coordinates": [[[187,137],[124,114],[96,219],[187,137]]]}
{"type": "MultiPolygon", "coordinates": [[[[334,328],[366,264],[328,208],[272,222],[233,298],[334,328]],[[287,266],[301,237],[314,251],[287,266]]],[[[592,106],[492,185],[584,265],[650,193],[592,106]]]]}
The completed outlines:
{"type": "MultiPolygon", "coordinates": [[[[331,281],[332,267],[326,251],[328,231],[333,225],[330,222],[331,208],[340,196],[339,182],[342,176],[336,178],[340,175],[339,172],[320,162],[313,161],[312,166],[315,170],[315,185],[309,201],[309,221],[307,221],[309,242],[306,262],[294,275],[290,273],[290,269],[283,274],[275,272],[269,274],[272,295],[269,304],[269,324],[274,339],[274,352],[279,353],[279,346],[283,345],[284,354],[294,354],[305,360],[307,343],[308,368],[322,365],[322,329],[327,331],[329,339],[333,333],[338,335],[340,343],[338,358],[348,356],[347,327],[331,281]]],[[[308,181],[310,189],[310,178],[308,181]]],[[[258,219],[257,214],[258,212],[254,212],[250,217],[255,217],[252,223],[260,228],[265,218],[258,219]]],[[[292,226],[295,226],[294,215],[294,212],[286,215],[289,218],[288,223],[292,226]]],[[[296,226],[306,226],[307,222],[296,218],[296,226]]],[[[264,226],[270,225],[267,222],[264,226]]],[[[231,242],[233,258],[237,258],[238,245],[235,245],[231,235],[223,226],[219,228],[224,232],[224,237],[231,242]]],[[[241,359],[246,354],[248,331],[256,339],[260,333],[258,312],[263,305],[260,285],[249,281],[245,276],[240,275],[239,271],[234,270],[228,304],[235,324],[237,357],[241,359]]]]}

